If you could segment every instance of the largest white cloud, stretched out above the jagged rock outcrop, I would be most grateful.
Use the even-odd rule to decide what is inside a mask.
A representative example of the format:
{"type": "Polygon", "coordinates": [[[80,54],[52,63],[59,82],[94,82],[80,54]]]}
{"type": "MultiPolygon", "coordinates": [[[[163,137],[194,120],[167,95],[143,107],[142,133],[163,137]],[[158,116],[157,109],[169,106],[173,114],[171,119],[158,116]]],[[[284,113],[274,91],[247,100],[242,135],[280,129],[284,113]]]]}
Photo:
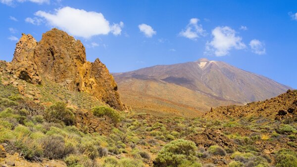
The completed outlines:
{"type": "Polygon", "coordinates": [[[77,37],[90,38],[96,35],[107,35],[110,32],[120,35],[123,22],[110,25],[102,13],[86,11],[71,7],[55,9],[53,14],[37,11],[36,16],[43,17],[50,26],[60,28],[77,37]]]}

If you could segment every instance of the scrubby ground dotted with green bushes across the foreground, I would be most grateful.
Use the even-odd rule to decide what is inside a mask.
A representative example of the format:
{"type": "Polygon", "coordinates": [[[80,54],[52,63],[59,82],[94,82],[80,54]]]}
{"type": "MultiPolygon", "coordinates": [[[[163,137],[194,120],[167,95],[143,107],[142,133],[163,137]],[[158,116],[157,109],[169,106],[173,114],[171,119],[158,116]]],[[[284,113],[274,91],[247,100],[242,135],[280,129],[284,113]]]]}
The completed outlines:
{"type": "Polygon", "coordinates": [[[15,91],[0,97],[0,143],[8,144],[8,153],[21,153],[32,162],[63,160],[68,167],[144,167],[152,162],[154,167],[213,167],[227,162],[229,167],[296,167],[294,121],[274,124],[254,115],[219,121],[172,118],[124,113],[91,102],[87,106],[95,107],[81,110],[84,105],[66,107],[56,100],[33,110],[15,91]],[[85,124],[91,116],[91,124],[85,124]],[[278,152],[265,147],[272,142],[278,152]],[[215,162],[218,157],[227,162],[215,162]]]}

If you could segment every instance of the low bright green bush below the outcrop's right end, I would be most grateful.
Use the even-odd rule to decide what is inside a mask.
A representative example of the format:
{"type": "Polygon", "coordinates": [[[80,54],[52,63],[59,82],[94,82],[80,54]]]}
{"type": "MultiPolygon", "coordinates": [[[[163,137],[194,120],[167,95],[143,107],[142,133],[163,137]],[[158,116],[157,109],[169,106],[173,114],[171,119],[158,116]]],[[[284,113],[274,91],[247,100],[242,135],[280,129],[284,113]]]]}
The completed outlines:
{"type": "Polygon", "coordinates": [[[96,106],[92,109],[92,112],[95,116],[102,117],[106,115],[110,117],[114,122],[120,121],[120,114],[114,109],[111,109],[105,106],[96,106]]]}

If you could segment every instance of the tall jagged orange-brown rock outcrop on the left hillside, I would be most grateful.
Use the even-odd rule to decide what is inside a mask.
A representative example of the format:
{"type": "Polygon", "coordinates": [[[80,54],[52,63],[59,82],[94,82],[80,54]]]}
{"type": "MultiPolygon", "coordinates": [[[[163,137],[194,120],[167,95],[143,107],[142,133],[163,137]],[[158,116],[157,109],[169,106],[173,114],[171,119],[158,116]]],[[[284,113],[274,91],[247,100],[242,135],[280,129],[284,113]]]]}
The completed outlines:
{"type": "Polygon", "coordinates": [[[64,31],[53,28],[44,33],[39,42],[29,34],[22,34],[11,65],[15,75],[29,83],[41,84],[42,78],[49,79],[124,110],[117,85],[106,66],[99,59],[87,61],[81,41],[64,31]]]}

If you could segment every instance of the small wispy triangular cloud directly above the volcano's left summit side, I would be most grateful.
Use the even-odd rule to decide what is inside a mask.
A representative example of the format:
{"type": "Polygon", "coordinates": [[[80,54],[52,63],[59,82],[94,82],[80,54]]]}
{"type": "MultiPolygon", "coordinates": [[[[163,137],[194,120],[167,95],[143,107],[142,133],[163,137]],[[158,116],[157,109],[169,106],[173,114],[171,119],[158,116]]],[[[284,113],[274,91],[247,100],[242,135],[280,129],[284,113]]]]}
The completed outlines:
{"type": "Polygon", "coordinates": [[[179,35],[191,40],[196,40],[200,36],[206,36],[206,31],[203,30],[201,24],[198,24],[198,21],[198,18],[191,18],[190,23],[187,25],[186,29],[183,29],[179,33],[179,35]]]}

